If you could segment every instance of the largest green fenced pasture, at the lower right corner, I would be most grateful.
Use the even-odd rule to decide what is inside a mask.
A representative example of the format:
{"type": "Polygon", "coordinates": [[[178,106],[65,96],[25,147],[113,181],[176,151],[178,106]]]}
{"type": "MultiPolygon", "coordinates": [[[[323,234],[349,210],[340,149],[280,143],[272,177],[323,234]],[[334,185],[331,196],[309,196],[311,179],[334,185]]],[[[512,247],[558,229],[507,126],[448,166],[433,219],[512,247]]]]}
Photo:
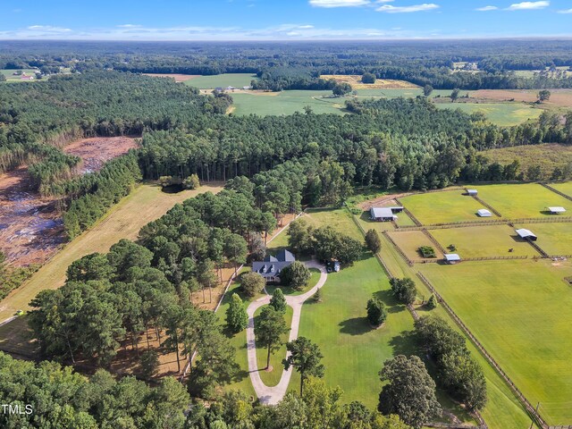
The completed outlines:
{"type": "Polygon", "coordinates": [[[572,421],[572,263],[423,265],[422,273],[551,425],[572,421]]]}

